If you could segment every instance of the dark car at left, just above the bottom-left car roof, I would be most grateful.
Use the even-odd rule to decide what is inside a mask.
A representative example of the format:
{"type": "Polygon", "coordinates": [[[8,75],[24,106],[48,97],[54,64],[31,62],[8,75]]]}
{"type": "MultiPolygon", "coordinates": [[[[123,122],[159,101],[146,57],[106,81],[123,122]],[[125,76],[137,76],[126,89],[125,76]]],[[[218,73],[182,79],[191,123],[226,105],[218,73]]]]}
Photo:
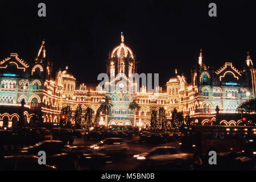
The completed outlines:
{"type": "Polygon", "coordinates": [[[38,155],[39,151],[45,151],[46,155],[55,155],[65,150],[64,143],[60,140],[44,140],[43,142],[36,143],[34,146],[24,147],[20,150],[22,154],[38,155]]]}

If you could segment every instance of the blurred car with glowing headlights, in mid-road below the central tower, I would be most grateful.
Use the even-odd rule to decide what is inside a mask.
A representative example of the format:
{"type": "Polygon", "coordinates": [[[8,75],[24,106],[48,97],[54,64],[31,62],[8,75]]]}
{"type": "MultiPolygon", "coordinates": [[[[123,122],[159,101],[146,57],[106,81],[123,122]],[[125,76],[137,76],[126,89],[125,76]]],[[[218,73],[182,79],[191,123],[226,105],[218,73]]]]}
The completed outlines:
{"type": "Polygon", "coordinates": [[[122,138],[106,138],[90,146],[90,148],[105,154],[125,153],[129,150],[127,143],[125,143],[122,138]]]}

